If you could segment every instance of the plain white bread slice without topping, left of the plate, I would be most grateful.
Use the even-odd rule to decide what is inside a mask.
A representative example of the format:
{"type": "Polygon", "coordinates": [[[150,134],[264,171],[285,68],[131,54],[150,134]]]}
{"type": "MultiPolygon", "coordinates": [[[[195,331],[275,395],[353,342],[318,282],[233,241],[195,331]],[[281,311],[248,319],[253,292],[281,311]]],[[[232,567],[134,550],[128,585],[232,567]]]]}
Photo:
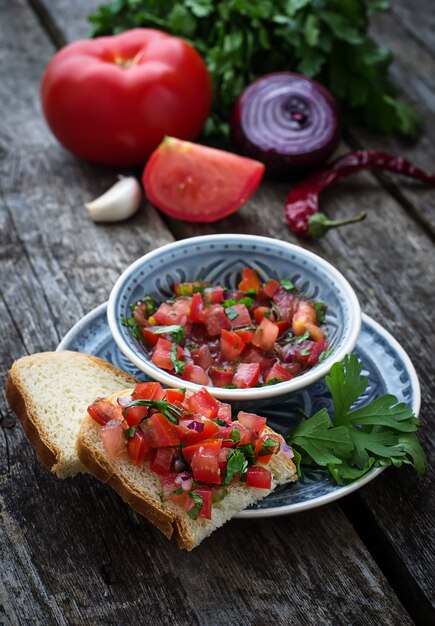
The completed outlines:
{"type": "Polygon", "coordinates": [[[42,352],[12,365],[6,396],[41,463],[65,478],[86,472],[75,445],[88,405],[135,382],[94,356],[42,352]]]}

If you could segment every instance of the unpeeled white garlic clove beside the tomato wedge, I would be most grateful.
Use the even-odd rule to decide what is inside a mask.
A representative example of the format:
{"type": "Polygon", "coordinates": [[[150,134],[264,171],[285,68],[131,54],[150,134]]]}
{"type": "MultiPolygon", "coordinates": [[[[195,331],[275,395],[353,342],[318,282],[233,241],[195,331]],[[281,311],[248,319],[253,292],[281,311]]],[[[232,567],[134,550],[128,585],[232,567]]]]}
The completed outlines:
{"type": "Polygon", "coordinates": [[[86,202],[94,222],[119,222],[131,217],[140,206],[142,189],[134,176],[120,177],[110,189],[92,202],[86,202]]]}

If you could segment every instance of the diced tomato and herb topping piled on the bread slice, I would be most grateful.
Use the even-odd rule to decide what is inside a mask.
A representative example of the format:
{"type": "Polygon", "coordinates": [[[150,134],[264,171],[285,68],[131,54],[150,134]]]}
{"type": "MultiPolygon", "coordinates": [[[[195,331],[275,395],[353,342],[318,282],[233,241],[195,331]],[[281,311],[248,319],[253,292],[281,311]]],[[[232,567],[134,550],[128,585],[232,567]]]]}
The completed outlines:
{"type": "Polygon", "coordinates": [[[239,411],[233,421],[231,406],[204,387],[192,392],[139,383],[116,404],[97,399],[88,413],[101,426],[107,455],[127,456],[161,476],[160,497],[193,519],[211,519],[234,482],[271,489],[271,458],[289,458],[288,446],[281,450],[284,440],[266,427],[265,417],[239,411]]]}

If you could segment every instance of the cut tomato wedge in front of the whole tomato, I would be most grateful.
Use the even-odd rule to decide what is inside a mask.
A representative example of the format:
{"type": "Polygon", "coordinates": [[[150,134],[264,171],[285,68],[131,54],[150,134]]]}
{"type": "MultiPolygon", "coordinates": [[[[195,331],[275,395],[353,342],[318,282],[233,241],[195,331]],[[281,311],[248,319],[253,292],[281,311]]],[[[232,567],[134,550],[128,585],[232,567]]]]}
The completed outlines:
{"type": "Polygon", "coordinates": [[[264,164],[224,150],[165,137],[142,177],[148,199],[188,222],[215,222],[256,191],[264,164]]]}

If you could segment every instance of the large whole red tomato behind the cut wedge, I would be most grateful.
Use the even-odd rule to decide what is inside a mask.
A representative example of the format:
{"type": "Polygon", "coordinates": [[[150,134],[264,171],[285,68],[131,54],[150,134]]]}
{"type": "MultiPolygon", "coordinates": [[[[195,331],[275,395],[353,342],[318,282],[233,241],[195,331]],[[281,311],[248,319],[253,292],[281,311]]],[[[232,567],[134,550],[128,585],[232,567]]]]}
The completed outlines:
{"type": "Polygon", "coordinates": [[[145,163],[165,135],[198,135],[211,81],[192,46],[137,28],[60,50],[43,76],[41,99],[65,148],[95,163],[133,166],[145,163]]]}

